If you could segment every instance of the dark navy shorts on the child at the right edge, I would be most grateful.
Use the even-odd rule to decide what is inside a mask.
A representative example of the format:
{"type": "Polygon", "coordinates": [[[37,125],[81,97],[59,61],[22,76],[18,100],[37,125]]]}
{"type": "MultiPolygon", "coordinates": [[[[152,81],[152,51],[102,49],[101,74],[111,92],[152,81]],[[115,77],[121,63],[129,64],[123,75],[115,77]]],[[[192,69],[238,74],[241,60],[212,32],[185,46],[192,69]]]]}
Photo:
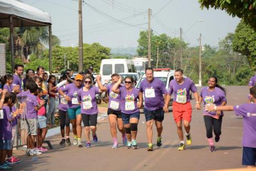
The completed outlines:
{"type": "Polygon", "coordinates": [[[243,147],[243,165],[255,165],[256,164],[256,148],[243,147]]]}

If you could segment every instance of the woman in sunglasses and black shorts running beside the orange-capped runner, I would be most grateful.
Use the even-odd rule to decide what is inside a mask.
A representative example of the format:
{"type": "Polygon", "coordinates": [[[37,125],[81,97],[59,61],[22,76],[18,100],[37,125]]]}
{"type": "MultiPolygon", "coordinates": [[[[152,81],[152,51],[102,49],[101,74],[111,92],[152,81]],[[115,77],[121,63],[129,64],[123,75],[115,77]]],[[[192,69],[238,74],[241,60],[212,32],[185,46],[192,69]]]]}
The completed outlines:
{"type": "MultiPolygon", "coordinates": [[[[93,80],[90,76],[84,78],[84,87],[78,90],[78,100],[81,102],[81,115],[84,124],[84,131],[86,136],[86,147],[90,147],[90,130],[92,131],[93,141],[96,143],[98,137],[97,130],[97,117],[98,106],[96,103],[95,95],[101,93],[98,87],[93,86],[93,80]]],[[[82,145],[81,145],[82,146],[82,145]]]]}

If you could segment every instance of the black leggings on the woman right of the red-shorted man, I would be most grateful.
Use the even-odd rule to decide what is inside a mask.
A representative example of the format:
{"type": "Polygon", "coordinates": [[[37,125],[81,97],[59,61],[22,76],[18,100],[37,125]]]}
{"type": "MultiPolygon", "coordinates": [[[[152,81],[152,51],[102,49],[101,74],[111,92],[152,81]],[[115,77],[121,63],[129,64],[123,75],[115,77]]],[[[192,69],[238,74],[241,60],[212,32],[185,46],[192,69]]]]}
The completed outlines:
{"type": "Polygon", "coordinates": [[[212,127],[214,127],[214,134],[216,136],[221,135],[222,116],[219,119],[215,119],[214,117],[205,115],[204,120],[207,138],[212,138],[212,127]]]}

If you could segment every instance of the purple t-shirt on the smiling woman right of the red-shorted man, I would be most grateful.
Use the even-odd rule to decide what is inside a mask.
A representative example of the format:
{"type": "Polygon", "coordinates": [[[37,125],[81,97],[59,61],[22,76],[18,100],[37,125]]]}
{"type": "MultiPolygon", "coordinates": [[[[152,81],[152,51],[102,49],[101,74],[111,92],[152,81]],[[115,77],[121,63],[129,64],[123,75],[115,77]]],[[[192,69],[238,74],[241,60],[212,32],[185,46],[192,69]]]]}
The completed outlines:
{"type": "MultiPolygon", "coordinates": [[[[201,90],[200,96],[204,101],[204,105],[215,104],[216,106],[220,106],[223,101],[227,101],[225,92],[222,89],[215,87],[214,90],[209,91],[208,87],[205,87],[201,90]]],[[[204,109],[204,115],[216,116],[216,111],[207,112],[204,109]]],[[[221,111],[221,115],[223,115],[223,111],[221,111]]]]}

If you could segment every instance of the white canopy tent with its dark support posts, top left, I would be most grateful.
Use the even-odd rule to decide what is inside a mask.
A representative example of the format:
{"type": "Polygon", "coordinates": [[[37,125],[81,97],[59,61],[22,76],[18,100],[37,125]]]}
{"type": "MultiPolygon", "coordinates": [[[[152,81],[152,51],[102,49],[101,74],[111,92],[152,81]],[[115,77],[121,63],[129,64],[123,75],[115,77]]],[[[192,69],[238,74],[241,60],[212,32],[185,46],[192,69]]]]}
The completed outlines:
{"type": "Polygon", "coordinates": [[[15,0],[0,0],[0,28],[10,28],[12,70],[14,70],[13,28],[22,26],[49,26],[49,70],[51,71],[51,16],[42,10],[15,0]]]}

